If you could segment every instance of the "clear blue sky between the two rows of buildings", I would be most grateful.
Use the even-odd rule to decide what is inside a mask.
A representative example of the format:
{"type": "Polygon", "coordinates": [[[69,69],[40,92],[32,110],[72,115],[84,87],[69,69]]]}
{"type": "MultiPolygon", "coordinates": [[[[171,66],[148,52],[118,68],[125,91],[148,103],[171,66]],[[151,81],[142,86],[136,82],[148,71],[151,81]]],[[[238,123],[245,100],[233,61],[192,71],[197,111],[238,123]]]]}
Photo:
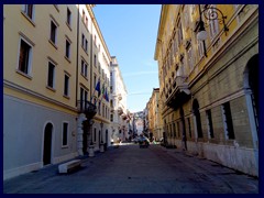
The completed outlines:
{"type": "Polygon", "coordinates": [[[128,109],[142,111],[158,85],[154,61],[161,4],[97,4],[97,22],[111,56],[117,56],[128,90],[128,109]]]}

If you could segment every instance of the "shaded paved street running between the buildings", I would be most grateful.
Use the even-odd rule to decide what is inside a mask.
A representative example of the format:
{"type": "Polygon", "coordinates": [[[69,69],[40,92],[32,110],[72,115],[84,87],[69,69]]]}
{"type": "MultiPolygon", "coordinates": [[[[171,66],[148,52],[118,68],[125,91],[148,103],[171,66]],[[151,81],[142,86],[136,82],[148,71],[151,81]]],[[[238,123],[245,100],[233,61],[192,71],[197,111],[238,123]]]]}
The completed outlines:
{"type": "Polygon", "coordinates": [[[166,150],[121,145],[82,158],[81,169],[57,165],[3,183],[4,194],[257,194],[258,180],[213,162],[166,150]]]}

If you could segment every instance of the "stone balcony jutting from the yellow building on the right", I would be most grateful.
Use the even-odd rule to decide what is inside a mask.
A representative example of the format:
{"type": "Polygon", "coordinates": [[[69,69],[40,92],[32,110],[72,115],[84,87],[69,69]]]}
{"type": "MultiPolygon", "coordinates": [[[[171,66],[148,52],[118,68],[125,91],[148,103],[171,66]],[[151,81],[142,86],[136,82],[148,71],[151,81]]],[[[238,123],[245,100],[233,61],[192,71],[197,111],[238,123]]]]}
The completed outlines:
{"type": "Polygon", "coordinates": [[[166,106],[177,109],[190,98],[190,90],[186,79],[187,77],[185,76],[176,76],[174,78],[173,86],[169,87],[169,91],[166,96],[166,106]]]}

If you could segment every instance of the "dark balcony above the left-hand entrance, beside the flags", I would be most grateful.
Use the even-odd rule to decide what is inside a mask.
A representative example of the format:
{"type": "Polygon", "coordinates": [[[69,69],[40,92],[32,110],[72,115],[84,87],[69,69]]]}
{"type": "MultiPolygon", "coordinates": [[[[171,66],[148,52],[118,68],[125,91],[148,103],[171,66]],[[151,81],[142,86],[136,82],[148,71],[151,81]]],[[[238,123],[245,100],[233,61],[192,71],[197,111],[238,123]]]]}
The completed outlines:
{"type": "Polygon", "coordinates": [[[85,113],[88,119],[91,119],[97,113],[96,105],[87,100],[77,101],[78,113],[85,113]]]}

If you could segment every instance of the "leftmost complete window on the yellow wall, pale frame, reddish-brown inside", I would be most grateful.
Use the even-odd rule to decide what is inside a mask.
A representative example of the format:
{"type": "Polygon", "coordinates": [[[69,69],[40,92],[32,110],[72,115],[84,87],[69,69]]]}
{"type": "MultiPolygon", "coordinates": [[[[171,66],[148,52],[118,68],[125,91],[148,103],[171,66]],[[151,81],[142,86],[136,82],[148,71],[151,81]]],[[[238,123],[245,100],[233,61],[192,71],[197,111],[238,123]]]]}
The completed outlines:
{"type": "Polygon", "coordinates": [[[32,46],[24,40],[20,40],[19,70],[29,75],[32,59],[32,46]]]}

